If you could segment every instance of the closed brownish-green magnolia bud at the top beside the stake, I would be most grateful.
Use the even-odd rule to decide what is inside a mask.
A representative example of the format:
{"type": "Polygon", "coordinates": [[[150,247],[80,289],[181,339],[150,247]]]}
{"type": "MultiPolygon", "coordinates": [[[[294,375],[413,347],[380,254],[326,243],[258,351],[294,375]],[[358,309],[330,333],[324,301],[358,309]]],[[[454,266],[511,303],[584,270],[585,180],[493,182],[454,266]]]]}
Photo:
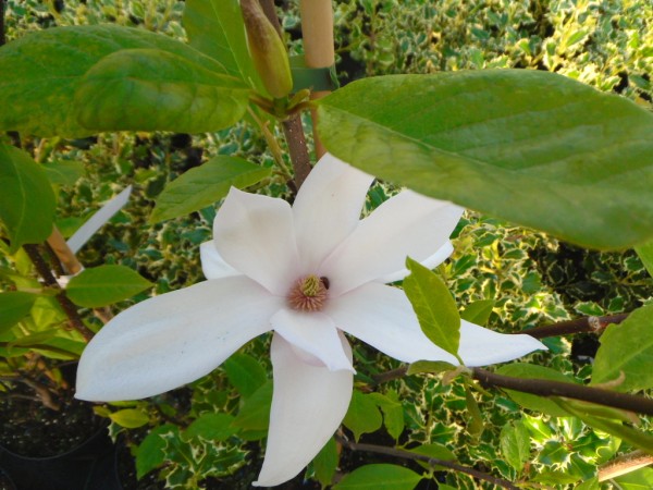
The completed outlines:
{"type": "Polygon", "coordinates": [[[249,53],[266,89],[275,99],[287,96],[293,89],[293,75],[281,37],[263,13],[258,0],[241,0],[241,10],[247,30],[249,53]]]}

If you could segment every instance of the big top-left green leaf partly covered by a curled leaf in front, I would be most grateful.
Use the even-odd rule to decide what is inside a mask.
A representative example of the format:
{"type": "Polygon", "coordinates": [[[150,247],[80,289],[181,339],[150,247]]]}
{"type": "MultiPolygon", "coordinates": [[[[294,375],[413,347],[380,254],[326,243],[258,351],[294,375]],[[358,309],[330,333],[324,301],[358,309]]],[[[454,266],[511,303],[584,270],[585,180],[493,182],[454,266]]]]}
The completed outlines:
{"type": "Polygon", "coordinates": [[[85,25],[39,30],[0,48],[0,131],[66,137],[91,134],[71,110],[75,89],[94,64],[122,49],[159,49],[224,73],[218,61],[146,29],[85,25]]]}

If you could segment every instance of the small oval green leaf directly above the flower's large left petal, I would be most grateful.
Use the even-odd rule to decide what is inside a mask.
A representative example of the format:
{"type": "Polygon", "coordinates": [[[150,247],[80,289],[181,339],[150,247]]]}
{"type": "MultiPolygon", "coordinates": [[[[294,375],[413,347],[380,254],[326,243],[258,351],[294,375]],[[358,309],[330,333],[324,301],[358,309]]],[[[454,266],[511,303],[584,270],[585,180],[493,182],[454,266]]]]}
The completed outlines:
{"type": "Polygon", "coordinates": [[[75,305],[98,308],[127,299],[152,283],[125,266],[85,269],[69,282],[67,296],[75,305]]]}

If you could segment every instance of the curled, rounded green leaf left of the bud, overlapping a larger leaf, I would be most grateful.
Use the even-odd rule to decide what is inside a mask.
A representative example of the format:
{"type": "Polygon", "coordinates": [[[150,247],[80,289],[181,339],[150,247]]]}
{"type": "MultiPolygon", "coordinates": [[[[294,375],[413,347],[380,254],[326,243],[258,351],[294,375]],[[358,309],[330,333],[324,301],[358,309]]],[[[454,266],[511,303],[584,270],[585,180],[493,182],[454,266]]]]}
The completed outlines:
{"type": "Polygon", "coordinates": [[[237,122],[249,89],[160,49],[127,49],[95,64],[75,91],[78,122],[100,131],[205,133],[237,122]]]}

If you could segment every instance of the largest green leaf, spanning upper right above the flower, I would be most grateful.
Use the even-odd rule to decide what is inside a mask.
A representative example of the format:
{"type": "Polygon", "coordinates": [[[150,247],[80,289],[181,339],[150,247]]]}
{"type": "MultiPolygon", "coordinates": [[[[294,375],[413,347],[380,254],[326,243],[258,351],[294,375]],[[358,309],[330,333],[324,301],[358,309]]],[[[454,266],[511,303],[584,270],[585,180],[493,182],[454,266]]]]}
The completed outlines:
{"type": "Polygon", "coordinates": [[[653,237],[653,114],[527,70],[366,78],[319,102],[336,157],[422,194],[617,248],[653,237]]]}

